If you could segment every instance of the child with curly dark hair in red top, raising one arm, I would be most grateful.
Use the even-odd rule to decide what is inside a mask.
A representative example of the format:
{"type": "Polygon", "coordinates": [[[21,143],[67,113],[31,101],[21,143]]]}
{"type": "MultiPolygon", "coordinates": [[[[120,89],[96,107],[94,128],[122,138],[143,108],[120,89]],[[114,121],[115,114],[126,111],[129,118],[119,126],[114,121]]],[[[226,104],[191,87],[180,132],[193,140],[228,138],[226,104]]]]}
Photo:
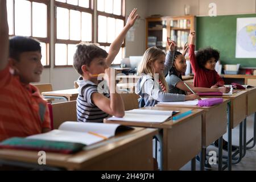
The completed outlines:
{"type": "Polygon", "coordinates": [[[218,88],[224,86],[224,81],[215,71],[215,64],[220,53],[212,48],[200,49],[195,55],[196,32],[189,34],[189,59],[194,76],[194,86],[205,88],[218,88]]]}

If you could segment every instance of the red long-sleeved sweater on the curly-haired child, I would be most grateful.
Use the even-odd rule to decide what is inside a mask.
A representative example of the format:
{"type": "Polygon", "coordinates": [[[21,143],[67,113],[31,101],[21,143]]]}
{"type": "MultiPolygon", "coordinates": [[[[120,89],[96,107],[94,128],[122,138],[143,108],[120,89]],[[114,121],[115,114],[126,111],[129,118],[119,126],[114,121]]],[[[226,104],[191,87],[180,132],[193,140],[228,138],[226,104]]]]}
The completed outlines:
{"type": "Polygon", "coordinates": [[[189,60],[194,76],[194,86],[210,88],[213,85],[223,86],[224,81],[215,70],[199,67],[195,56],[195,45],[189,45],[189,60]]]}

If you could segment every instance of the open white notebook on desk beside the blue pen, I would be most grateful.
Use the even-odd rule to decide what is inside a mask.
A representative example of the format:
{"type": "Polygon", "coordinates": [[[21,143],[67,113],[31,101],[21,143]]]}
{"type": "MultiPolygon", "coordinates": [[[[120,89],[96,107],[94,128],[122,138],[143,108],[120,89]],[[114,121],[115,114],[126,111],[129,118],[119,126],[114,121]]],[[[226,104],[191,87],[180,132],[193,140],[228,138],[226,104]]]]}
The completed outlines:
{"type": "Polygon", "coordinates": [[[173,111],[166,110],[133,109],[125,111],[123,118],[110,117],[108,120],[162,123],[167,121],[167,119],[172,116],[172,113],[173,111]]]}

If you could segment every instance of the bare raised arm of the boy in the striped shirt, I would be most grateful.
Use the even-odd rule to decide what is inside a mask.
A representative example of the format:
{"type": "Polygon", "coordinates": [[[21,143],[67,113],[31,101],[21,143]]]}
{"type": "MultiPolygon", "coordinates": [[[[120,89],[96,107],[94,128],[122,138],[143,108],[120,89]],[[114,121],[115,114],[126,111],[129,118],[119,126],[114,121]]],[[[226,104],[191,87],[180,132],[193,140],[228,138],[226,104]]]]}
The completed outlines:
{"type": "Polygon", "coordinates": [[[125,40],[125,36],[126,36],[127,32],[134,25],[135,20],[139,17],[139,15],[136,14],[136,12],[137,12],[137,9],[133,9],[133,11],[131,11],[131,13],[127,19],[127,23],[126,23],[125,27],[123,27],[123,30],[121,31],[121,33],[117,36],[117,38],[114,40],[114,42],[110,45],[109,55],[106,58],[106,64],[108,65],[108,67],[110,67],[113,60],[115,59],[115,56],[117,56],[117,53],[120,51],[120,48],[122,46],[123,40],[125,40]]]}

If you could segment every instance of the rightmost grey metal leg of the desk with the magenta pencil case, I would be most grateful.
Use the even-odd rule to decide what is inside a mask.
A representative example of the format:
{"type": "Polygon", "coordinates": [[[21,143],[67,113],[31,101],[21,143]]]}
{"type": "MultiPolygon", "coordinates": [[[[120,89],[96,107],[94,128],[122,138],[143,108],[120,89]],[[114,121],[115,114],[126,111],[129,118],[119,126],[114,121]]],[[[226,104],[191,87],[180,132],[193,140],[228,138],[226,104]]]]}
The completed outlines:
{"type": "Polygon", "coordinates": [[[232,128],[230,123],[230,102],[228,103],[228,171],[232,170],[232,128]]]}

